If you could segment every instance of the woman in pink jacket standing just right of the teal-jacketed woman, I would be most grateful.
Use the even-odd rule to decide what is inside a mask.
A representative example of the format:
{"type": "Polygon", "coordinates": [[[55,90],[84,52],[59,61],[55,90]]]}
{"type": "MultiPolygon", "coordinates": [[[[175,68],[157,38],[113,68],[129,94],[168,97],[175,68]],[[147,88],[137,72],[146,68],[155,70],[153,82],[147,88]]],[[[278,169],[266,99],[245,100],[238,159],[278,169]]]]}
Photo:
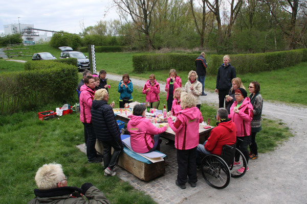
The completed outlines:
{"type": "Polygon", "coordinates": [[[156,81],[155,74],[152,73],[143,88],[143,94],[146,94],[146,102],[149,102],[150,108],[158,109],[160,104],[159,93],[160,85],[156,81]]]}

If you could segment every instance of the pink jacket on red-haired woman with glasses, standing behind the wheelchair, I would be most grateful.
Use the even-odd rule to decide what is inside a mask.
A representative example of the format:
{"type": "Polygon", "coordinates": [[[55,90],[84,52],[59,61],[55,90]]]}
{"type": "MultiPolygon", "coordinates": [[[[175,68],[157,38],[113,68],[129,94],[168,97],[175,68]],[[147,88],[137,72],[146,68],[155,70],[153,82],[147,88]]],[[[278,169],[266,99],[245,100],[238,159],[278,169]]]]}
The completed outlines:
{"type": "Polygon", "coordinates": [[[246,97],[242,105],[238,108],[239,113],[233,112],[233,108],[237,106],[237,101],[234,101],[230,107],[228,118],[233,121],[237,127],[237,137],[249,136],[251,134],[251,121],[253,120],[253,105],[250,103],[250,98],[246,97]]]}

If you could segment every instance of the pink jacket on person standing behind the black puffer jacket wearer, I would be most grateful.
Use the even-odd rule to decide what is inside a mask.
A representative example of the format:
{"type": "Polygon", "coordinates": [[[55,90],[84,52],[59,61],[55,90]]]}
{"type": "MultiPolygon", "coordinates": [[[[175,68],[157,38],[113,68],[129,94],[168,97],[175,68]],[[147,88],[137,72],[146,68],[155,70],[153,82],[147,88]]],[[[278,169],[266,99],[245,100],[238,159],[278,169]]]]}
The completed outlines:
{"type": "Polygon", "coordinates": [[[83,84],[80,88],[80,120],[85,123],[92,123],[91,108],[94,100],[95,90],[83,84]]]}

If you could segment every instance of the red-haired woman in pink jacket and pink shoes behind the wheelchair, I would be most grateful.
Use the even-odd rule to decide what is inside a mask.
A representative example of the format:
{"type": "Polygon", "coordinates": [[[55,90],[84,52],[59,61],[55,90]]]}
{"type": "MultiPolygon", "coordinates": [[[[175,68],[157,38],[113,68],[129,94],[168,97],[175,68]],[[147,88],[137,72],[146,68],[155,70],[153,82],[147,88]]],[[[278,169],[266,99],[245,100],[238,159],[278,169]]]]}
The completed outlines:
{"type": "MultiPolygon", "coordinates": [[[[246,161],[249,160],[248,143],[251,134],[251,121],[253,120],[253,105],[250,103],[250,98],[247,97],[247,92],[244,88],[238,88],[234,91],[235,101],[230,107],[228,117],[237,127],[236,147],[242,151],[246,161]]],[[[240,165],[239,158],[235,158],[234,166],[240,165]]],[[[245,167],[237,170],[238,173],[243,173],[245,167]]],[[[247,167],[248,171],[249,168],[247,167]]]]}

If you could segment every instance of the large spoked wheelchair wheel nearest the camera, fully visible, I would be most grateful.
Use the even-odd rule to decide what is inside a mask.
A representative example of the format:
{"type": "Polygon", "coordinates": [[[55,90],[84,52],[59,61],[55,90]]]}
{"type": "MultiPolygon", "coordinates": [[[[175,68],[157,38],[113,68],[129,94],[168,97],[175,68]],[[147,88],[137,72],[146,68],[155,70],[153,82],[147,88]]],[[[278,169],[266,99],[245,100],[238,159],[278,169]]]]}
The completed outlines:
{"type": "Polygon", "coordinates": [[[216,189],[226,188],[230,181],[230,171],[226,162],[216,155],[207,155],[202,160],[202,174],[205,181],[216,189]]]}

